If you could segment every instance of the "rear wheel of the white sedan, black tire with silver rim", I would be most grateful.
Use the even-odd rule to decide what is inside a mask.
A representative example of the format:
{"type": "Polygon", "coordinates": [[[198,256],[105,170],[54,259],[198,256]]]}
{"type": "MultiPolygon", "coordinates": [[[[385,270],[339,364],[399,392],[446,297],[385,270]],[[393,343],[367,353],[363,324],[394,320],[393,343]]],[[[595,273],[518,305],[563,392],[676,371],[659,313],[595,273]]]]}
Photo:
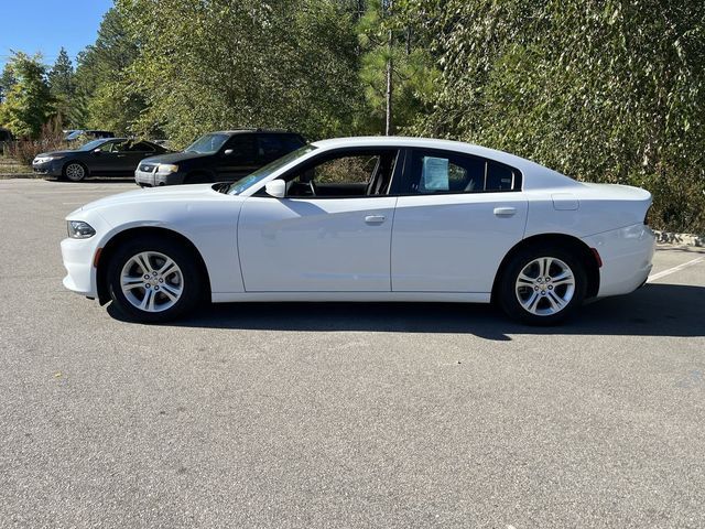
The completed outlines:
{"type": "Polygon", "coordinates": [[[502,310],[510,317],[530,325],[556,325],[571,317],[583,304],[586,291],[587,274],[581,259],[555,246],[517,252],[505,268],[498,285],[502,310]],[[541,276],[541,267],[546,263],[550,269],[541,276]],[[566,268],[573,279],[572,285],[566,279],[566,268]],[[522,272],[525,272],[522,278],[532,281],[520,281],[522,272]],[[552,274],[564,279],[556,280],[552,274]]]}

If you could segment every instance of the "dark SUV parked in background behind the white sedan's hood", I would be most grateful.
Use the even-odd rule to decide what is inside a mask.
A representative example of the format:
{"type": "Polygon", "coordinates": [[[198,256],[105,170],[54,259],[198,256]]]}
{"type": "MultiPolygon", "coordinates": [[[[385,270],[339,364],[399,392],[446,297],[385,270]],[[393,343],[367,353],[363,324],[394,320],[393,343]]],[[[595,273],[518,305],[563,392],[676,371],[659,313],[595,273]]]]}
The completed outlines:
{"type": "Polygon", "coordinates": [[[301,134],[280,130],[210,132],[183,152],[143,160],[134,180],[141,186],[236,181],[305,143],[301,134]]]}

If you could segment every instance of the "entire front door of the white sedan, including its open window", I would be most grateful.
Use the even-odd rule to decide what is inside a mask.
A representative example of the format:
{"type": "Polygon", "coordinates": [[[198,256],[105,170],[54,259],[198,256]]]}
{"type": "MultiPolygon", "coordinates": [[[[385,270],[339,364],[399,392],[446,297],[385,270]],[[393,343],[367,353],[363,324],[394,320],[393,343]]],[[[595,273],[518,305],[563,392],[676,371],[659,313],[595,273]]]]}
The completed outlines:
{"type": "Polygon", "coordinates": [[[397,151],[329,153],[293,170],[285,198],[245,201],[238,223],[248,292],[389,292],[397,151]]]}

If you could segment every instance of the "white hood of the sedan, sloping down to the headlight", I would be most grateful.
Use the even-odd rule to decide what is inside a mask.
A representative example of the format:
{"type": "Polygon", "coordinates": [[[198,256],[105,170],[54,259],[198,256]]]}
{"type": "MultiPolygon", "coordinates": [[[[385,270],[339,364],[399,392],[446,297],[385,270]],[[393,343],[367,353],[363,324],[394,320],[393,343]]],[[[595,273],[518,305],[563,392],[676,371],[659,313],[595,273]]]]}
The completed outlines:
{"type": "Polygon", "coordinates": [[[144,205],[144,207],[149,209],[150,206],[156,206],[158,204],[165,202],[192,203],[207,199],[232,198],[230,195],[218,193],[213,187],[214,184],[194,184],[147,187],[143,190],[128,191],[127,193],[107,196],[88,203],[73,212],[69,217],[78,212],[85,213],[96,209],[106,209],[115,206],[124,206],[127,204],[144,205]]]}

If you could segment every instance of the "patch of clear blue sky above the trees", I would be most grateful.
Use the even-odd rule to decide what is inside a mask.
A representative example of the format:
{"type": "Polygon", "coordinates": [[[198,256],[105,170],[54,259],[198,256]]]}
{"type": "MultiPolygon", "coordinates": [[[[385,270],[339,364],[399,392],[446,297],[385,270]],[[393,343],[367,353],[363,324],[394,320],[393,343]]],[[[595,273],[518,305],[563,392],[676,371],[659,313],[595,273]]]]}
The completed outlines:
{"type": "Polygon", "coordinates": [[[112,0],[0,0],[0,69],[11,51],[41,52],[50,66],[62,46],[74,66],[76,55],[93,44],[112,0]]]}

